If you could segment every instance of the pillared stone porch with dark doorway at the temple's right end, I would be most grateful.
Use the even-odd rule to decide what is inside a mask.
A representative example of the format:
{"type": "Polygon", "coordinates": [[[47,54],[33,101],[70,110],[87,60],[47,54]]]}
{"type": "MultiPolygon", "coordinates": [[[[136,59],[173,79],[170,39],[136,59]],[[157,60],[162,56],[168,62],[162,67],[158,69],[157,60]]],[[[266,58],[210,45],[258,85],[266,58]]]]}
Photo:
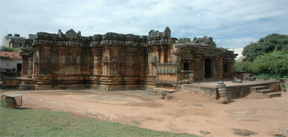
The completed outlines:
{"type": "Polygon", "coordinates": [[[180,57],[181,71],[193,71],[196,81],[223,79],[224,75],[234,71],[236,54],[227,49],[191,43],[176,44],[173,45],[173,55],[180,57]],[[208,64],[205,63],[207,60],[208,64]],[[185,65],[188,67],[184,67],[185,65]],[[224,73],[224,65],[227,67],[227,69],[225,68],[227,73],[224,73]],[[209,67],[209,69],[205,69],[205,67],[209,67]],[[209,77],[205,77],[206,73],[210,73],[209,77]]]}

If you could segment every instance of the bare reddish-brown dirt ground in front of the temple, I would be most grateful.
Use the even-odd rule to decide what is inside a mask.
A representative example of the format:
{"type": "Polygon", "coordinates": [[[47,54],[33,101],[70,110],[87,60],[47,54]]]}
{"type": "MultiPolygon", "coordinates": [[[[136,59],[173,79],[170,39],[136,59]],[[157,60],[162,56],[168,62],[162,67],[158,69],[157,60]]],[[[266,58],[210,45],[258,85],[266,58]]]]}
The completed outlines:
{"type": "Polygon", "coordinates": [[[273,136],[288,129],[287,92],[270,99],[248,95],[229,104],[197,92],[175,92],[171,100],[145,90],[2,90],[0,94],[15,93],[23,95],[24,108],[64,111],[156,131],[199,136],[241,136],[235,131],[248,131],[252,136],[273,136]]]}

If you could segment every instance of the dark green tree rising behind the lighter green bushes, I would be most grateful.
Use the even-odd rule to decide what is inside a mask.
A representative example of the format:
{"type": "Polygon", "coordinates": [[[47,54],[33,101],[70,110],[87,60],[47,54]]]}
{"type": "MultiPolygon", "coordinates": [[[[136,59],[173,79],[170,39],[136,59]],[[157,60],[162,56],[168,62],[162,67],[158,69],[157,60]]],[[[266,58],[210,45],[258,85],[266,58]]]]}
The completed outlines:
{"type": "Polygon", "coordinates": [[[288,51],[288,35],[269,34],[258,42],[252,42],[244,47],[242,54],[247,56],[248,60],[252,62],[256,60],[257,56],[274,50],[288,51]]]}

